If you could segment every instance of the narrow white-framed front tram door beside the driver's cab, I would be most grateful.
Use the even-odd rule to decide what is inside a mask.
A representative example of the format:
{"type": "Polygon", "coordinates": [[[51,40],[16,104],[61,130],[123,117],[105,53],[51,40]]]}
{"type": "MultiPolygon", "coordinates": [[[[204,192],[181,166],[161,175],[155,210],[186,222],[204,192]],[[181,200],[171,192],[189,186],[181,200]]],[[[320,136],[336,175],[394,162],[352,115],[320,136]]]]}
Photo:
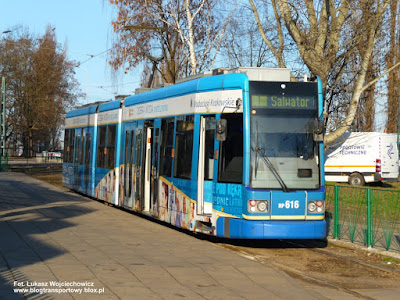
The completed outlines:
{"type": "Polygon", "coordinates": [[[197,214],[211,215],[214,173],[215,115],[200,117],[199,165],[197,173],[197,214]]]}

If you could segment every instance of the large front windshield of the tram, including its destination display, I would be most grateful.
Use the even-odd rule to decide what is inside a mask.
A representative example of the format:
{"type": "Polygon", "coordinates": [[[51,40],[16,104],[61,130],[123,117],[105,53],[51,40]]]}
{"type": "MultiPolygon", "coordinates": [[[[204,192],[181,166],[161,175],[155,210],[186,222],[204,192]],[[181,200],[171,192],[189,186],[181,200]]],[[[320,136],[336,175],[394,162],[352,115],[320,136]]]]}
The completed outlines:
{"type": "Polygon", "coordinates": [[[250,107],[250,186],[318,189],[317,84],[251,82],[250,107]]]}

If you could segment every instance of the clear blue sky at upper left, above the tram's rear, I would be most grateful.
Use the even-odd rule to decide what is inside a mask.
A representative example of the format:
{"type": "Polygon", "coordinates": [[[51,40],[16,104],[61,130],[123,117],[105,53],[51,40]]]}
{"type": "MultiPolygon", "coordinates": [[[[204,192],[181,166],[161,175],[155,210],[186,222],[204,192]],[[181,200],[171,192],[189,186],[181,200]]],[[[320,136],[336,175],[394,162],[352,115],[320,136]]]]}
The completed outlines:
{"type": "Polygon", "coordinates": [[[43,35],[48,24],[55,27],[57,41],[67,45],[68,58],[82,63],[75,78],[87,94],[81,99],[85,104],[133,94],[139,86],[139,75],[113,74],[107,64],[114,15],[107,0],[0,0],[0,32],[23,26],[33,35],[43,35]]]}

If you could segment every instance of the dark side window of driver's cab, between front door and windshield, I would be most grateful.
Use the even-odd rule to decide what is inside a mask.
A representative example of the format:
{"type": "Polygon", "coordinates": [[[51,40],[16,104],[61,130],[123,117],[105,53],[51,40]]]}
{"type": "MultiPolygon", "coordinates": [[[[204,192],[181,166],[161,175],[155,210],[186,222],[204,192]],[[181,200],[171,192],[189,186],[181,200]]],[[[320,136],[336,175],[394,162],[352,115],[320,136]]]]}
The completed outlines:
{"type": "Polygon", "coordinates": [[[225,114],[227,137],[220,144],[218,181],[242,183],[243,174],[243,115],[225,114]]]}

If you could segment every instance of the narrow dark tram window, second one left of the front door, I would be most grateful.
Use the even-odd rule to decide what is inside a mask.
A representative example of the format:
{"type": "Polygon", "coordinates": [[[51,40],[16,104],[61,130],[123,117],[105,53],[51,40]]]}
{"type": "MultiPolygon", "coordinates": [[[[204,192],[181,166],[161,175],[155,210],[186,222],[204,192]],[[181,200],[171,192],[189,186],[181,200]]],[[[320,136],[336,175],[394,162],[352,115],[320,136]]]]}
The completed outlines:
{"type": "Polygon", "coordinates": [[[174,142],[174,118],[161,122],[160,175],[171,176],[172,148],[174,142]]]}

